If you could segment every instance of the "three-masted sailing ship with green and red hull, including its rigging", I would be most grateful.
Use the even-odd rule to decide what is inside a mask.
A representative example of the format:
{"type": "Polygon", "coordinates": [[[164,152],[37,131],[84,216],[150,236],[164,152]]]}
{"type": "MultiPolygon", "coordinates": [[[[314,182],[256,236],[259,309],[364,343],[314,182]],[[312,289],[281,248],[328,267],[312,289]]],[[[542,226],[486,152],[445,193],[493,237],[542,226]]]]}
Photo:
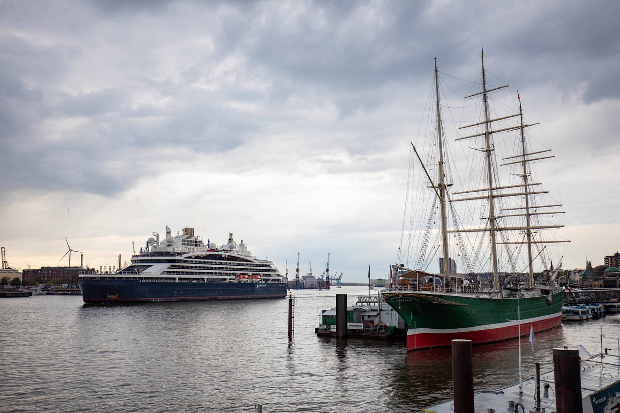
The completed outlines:
{"type": "MultiPolygon", "coordinates": [[[[394,308],[408,326],[407,350],[425,349],[451,345],[453,339],[472,340],[474,344],[497,342],[521,335],[552,329],[562,321],[563,288],[558,285],[557,272],[549,265],[547,243],[569,242],[566,239],[549,239],[546,230],[561,228],[563,225],[547,223],[547,218],[557,217],[562,211],[559,203],[540,202],[540,196],[546,191],[539,190],[539,182],[532,180],[532,162],[551,158],[547,150],[532,151],[526,140],[528,125],[523,122],[523,110],[519,97],[519,111],[516,114],[495,115],[490,105],[490,94],[507,86],[487,86],[487,74],[482,55],[481,90],[467,98],[481,98],[480,121],[460,127],[461,130],[474,130],[475,133],[456,138],[457,141],[477,139],[472,145],[482,155],[482,161],[470,162],[482,166],[482,174],[476,179],[479,189],[451,192],[449,182],[452,177],[448,164],[446,140],[441,120],[440,82],[435,61],[435,107],[436,128],[433,137],[432,154],[429,155],[427,167],[412,143],[415,153],[415,165],[423,179],[423,191],[430,190],[432,212],[426,226],[419,231],[411,231],[406,239],[418,238],[417,261],[414,268],[404,264],[391,266],[392,285],[383,293],[384,300],[394,308]],[[499,123],[503,125],[498,126],[499,123]],[[508,135],[513,142],[500,138],[508,135]],[[497,165],[496,147],[510,148],[512,153],[503,158],[504,163],[497,165]],[[436,161],[435,161],[436,160],[436,161]],[[511,168],[507,177],[516,182],[502,185],[498,181],[500,167],[511,168]],[[422,172],[423,171],[423,172],[422,172]],[[433,177],[434,175],[434,177],[433,177]],[[515,178],[516,177],[516,178],[515,178]],[[509,200],[516,200],[511,206],[509,200]],[[477,201],[480,213],[477,215],[477,227],[464,228],[463,221],[456,214],[455,202],[477,201]],[[435,216],[435,210],[438,215],[435,216]],[[448,210],[451,212],[451,226],[448,226],[448,210]],[[479,218],[479,219],[478,219],[479,218]],[[433,239],[432,224],[438,222],[435,246],[428,244],[433,239]],[[466,235],[473,235],[467,238],[466,235]],[[454,240],[454,241],[451,241],[454,240]],[[466,267],[464,273],[457,273],[456,265],[450,255],[450,247],[459,262],[466,267]],[[454,251],[456,249],[456,251],[454,251]],[[469,259],[471,251],[476,252],[469,259]],[[534,255],[534,252],[538,254],[534,255]],[[501,254],[500,254],[501,253],[501,254]],[[439,256],[441,254],[441,256],[439,256]],[[489,261],[479,257],[488,256],[489,261]],[[431,256],[432,259],[428,259],[431,256]],[[427,271],[428,262],[436,262],[439,256],[440,273],[427,271]],[[502,257],[503,262],[500,262],[502,257]],[[534,278],[534,261],[542,259],[544,277],[534,278]],[[519,263],[523,267],[520,267],[519,263]],[[426,267],[425,267],[426,265],[426,267]],[[486,271],[476,272],[476,268],[486,271]]],[[[435,123],[435,122],[433,122],[435,123]]],[[[454,156],[451,155],[451,158],[454,156]]],[[[455,174],[457,178],[463,177],[455,174]]],[[[476,180],[474,179],[474,180],[476,180]]],[[[464,185],[462,185],[464,186],[464,185]]],[[[418,191],[418,193],[423,193],[418,191]]],[[[426,195],[425,195],[426,196],[426,195]]],[[[430,203],[430,201],[429,201],[430,203]]],[[[414,207],[417,207],[415,204],[414,207]]],[[[414,211],[419,221],[420,211],[414,211]]],[[[469,217],[476,216],[471,209],[469,217]]],[[[474,225],[472,225],[474,226],[474,225]]],[[[404,225],[405,228],[405,225],[404,225]]],[[[413,227],[412,227],[413,228],[413,227]]],[[[405,231],[404,231],[405,232],[405,231]]],[[[560,244],[552,244],[560,245],[560,244]]],[[[405,254],[411,254],[410,247],[401,244],[399,262],[405,254]],[[409,249],[408,249],[409,248],[409,249]]]]}

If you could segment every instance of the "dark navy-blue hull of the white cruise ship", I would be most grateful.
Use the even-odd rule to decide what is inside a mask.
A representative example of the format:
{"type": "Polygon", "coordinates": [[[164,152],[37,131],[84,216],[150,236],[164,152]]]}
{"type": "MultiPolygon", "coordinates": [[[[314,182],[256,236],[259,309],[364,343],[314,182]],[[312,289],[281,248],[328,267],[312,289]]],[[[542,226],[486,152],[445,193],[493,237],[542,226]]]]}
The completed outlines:
{"type": "Polygon", "coordinates": [[[285,283],[157,282],[145,280],[80,280],[84,303],[283,298],[285,283]]]}

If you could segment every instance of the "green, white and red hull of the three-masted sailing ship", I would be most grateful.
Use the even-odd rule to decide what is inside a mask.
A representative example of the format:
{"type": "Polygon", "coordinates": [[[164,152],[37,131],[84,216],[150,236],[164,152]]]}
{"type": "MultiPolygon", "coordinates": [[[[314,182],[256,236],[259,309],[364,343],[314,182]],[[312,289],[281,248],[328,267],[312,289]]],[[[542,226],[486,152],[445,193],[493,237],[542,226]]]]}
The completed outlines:
{"type": "Polygon", "coordinates": [[[473,344],[514,339],[562,322],[562,291],[527,298],[485,298],[424,291],[383,293],[408,326],[407,350],[446,347],[451,340],[473,344]]]}

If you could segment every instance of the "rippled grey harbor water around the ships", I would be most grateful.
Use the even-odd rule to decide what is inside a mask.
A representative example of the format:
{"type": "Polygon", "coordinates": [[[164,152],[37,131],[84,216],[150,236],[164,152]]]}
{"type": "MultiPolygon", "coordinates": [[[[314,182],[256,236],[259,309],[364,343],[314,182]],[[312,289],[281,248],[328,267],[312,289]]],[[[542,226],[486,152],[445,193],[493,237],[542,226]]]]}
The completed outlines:
{"type": "MultiPolygon", "coordinates": [[[[87,306],[80,296],[0,300],[2,412],[415,412],[450,399],[450,349],[409,352],[404,342],[317,337],[335,295],[355,304],[368,287],[293,290],[288,300],[87,306]]],[[[376,292],[374,292],[376,294],[376,292]]],[[[618,353],[620,315],[521,340],[474,346],[474,387],[519,379],[552,349],[582,344],[618,353]]]]}

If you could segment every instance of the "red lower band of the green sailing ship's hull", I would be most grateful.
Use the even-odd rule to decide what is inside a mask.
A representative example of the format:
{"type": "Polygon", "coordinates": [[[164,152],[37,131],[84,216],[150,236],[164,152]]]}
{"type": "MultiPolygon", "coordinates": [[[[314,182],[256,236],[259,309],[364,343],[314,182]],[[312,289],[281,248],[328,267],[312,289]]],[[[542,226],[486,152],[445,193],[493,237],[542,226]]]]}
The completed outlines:
{"type": "MultiPolygon", "coordinates": [[[[561,323],[562,313],[552,314],[545,318],[521,320],[521,336],[529,334],[530,326],[534,328],[534,332],[539,332],[558,327],[561,323]]],[[[472,329],[410,329],[407,331],[407,350],[447,347],[452,344],[452,340],[471,340],[472,344],[482,344],[515,339],[518,336],[519,323],[517,321],[479,326],[472,329]]]]}

